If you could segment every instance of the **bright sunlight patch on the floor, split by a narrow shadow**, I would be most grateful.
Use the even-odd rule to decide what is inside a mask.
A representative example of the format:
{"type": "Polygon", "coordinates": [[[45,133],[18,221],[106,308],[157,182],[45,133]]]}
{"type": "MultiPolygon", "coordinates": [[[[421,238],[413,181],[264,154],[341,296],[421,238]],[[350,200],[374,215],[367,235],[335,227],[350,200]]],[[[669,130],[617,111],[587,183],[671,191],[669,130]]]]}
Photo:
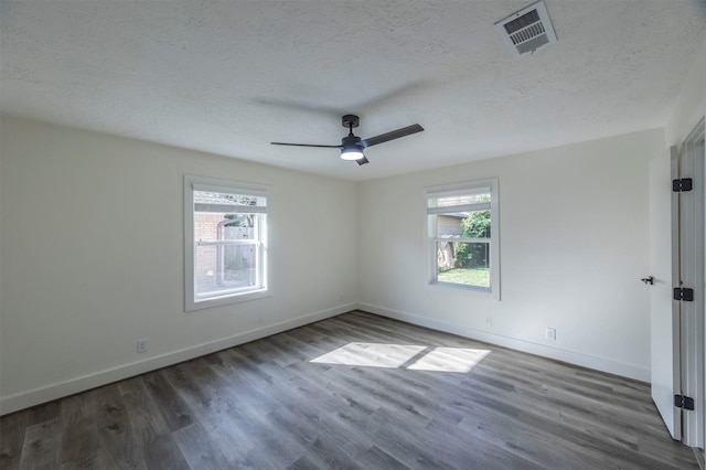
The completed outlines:
{"type": "Polygon", "coordinates": [[[407,368],[410,371],[471,371],[490,350],[437,348],[416,344],[347,343],[309,362],[359,365],[365,367],[407,368]]]}

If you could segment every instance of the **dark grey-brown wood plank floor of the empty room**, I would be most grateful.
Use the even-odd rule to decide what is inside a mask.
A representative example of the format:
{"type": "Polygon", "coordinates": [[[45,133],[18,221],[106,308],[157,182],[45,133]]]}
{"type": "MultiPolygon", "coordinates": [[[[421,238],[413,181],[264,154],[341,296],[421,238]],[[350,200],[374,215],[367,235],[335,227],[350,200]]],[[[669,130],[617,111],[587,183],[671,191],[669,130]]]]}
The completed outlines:
{"type": "Polygon", "coordinates": [[[354,311],[0,418],[2,469],[697,469],[648,384],[354,311]]]}

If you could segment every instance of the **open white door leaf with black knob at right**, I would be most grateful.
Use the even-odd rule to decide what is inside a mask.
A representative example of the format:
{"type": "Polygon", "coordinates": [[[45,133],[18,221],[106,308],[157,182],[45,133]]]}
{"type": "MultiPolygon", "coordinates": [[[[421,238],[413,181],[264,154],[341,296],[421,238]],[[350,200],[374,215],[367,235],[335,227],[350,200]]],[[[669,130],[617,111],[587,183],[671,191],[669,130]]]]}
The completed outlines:
{"type": "Polygon", "coordinates": [[[673,439],[682,439],[680,318],[672,312],[672,180],[676,147],[650,163],[650,286],[652,399],[673,439]]]}

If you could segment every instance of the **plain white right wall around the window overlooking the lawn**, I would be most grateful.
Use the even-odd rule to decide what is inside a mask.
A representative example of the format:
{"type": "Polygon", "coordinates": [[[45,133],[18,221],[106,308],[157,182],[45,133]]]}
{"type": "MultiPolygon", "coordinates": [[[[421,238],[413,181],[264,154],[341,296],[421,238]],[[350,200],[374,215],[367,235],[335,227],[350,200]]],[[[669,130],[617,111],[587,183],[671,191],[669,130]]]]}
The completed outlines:
{"type": "Polygon", "coordinates": [[[656,129],[361,183],[360,307],[649,381],[640,278],[649,275],[648,168],[664,147],[656,129]],[[425,186],[494,177],[501,300],[428,287],[425,186]]]}

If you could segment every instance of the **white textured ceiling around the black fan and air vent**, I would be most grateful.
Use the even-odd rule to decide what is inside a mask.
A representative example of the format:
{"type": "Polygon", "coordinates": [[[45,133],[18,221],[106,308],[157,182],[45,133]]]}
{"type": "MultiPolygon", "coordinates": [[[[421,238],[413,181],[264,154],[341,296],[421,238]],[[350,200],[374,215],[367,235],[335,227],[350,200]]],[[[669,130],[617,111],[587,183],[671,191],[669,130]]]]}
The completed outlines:
{"type": "Polygon", "coordinates": [[[360,181],[664,126],[705,0],[545,0],[558,42],[513,56],[532,1],[1,0],[3,113],[360,181]],[[426,129],[342,161],[366,138],[426,129]]]}

